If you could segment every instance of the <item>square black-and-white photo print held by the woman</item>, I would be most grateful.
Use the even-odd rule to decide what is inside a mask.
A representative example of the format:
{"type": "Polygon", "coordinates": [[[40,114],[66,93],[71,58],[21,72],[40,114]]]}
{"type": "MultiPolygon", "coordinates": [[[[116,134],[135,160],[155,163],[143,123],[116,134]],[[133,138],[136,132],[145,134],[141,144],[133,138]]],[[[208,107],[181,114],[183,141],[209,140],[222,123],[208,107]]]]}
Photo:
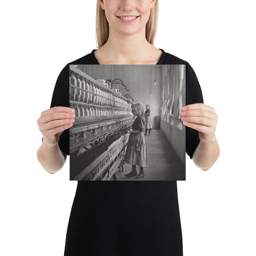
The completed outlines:
{"type": "Polygon", "coordinates": [[[70,180],[185,180],[185,65],[70,65],[70,180]]]}

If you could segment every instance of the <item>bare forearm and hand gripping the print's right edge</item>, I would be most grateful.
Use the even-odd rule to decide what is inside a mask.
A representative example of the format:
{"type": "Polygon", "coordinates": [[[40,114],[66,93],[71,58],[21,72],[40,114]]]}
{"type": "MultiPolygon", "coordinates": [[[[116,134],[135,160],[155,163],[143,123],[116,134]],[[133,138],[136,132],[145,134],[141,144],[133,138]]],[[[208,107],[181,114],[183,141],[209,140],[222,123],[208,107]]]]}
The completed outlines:
{"type": "Polygon", "coordinates": [[[202,103],[183,106],[182,121],[185,126],[198,130],[200,142],[193,153],[193,161],[202,170],[208,170],[220,154],[215,137],[218,116],[215,109],[202,103]]]}

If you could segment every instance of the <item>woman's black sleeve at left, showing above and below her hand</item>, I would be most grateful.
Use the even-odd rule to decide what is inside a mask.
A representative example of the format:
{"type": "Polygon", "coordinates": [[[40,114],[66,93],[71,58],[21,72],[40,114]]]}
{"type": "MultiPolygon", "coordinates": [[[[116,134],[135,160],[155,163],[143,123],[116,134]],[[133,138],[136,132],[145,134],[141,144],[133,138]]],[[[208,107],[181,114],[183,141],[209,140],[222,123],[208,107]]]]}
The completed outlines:
{"type": "MultiPolygon", "coordinates": [[[[70,107],[69,78],[70,65],[68,64],[58,75],[54,87],[54,93],[52,94],[52,102],[50,103],[50,108],[54,106],[70,107]]],[[[60,135],[58,146],[63,153],[70,154],[70,129],[64,130],[64,132],[60,135]]]]}

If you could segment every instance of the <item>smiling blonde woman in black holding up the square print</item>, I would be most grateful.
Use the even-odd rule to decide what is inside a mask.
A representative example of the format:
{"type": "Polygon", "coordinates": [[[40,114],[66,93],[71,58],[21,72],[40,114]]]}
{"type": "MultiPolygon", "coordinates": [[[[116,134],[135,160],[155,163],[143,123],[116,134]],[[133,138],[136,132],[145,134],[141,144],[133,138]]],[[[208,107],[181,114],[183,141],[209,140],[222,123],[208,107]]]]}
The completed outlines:
{"type": "MultiPolygon", "coordinates": [[[[182,109],[182,121],[188,127],[186,153],[196,166],[209,169],[220,151],[215,138],[218,117],[214,108],[203,104],[190,64],[153,46],[158,0],[97,0],[96,15],[99,49],[63,68],[50,109],[38,119],[44,137],[38,150],[42,167],[54,174],[70,153],[68,128],[74,122],[73,111],[68,108],[70,64],[182,64],[186,65],[188,104],[182,109]]],[[[79,181],[64,255],[183,255],[177,182],[79,181]]]]}

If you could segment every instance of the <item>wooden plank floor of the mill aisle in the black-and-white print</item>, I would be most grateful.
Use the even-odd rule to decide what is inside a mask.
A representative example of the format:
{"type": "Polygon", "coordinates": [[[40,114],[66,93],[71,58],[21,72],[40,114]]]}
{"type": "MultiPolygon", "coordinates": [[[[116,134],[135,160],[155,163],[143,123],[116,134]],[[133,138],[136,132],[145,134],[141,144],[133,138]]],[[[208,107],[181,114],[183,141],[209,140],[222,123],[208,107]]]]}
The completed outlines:
{"type": "Polygon", "coordinates": [[[146,136],[146,146],[148,162],[144,167],[145,176],[127,178],[124,174],[130,172],[132,166],[125,164],[124,172],[116,173],[117,180],[185,180],[185,163],[179,161],[161,130],[151,130],[151,135],[146,136]]]}

